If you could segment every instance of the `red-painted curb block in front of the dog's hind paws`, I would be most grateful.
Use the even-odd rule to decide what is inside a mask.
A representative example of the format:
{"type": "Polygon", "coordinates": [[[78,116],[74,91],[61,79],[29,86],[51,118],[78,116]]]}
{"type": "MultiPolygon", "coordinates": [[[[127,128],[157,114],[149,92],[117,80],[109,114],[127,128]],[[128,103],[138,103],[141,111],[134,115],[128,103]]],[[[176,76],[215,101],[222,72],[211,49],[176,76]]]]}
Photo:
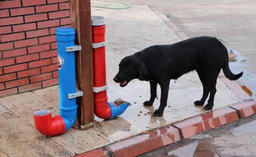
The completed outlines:
{"type": "Polygon", "coordinates": [[[239,120],[238,112],[230,107],[225,107],[178,122],[174,126],[181,130],[183,138],[188,138],[237,120],[239,120]]]}

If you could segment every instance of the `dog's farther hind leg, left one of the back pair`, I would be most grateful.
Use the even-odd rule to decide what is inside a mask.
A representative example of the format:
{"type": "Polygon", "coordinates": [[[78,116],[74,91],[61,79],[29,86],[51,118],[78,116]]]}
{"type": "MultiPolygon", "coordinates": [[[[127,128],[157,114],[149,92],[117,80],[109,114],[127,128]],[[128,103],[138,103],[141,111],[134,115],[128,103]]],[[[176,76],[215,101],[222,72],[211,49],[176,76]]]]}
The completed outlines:
{"type": "Polygon", "coordinates": [[[209,87],[208,87],[208,80],[207,80],[207,74],[205,72],[205,69],[201,68],[196,70],[199,79],[201,80],[202,84],[203,84],[203,96],[201,98],[201,100],[197,100],[194,102],[194,104],[196,106],[203,106],[203,104],[205,103],[205,100],[207,99],[208,95],[209,95],[209,87]]]}

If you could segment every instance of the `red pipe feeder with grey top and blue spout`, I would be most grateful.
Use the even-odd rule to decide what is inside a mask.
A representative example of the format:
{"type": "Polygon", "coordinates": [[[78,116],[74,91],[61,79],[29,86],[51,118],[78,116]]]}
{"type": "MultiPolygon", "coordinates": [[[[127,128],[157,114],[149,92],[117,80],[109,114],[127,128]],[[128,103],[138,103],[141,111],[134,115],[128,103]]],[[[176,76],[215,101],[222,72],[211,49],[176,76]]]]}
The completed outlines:
{"type": "Polygon", "coordinates": [[[130,102],[117,106],[108,102],[105,60],[105,19],[102,16],[91,16],[92,53],[93,53],[93,99],[94,113],[101,119],[113,119],[121,115],[130,102]]]}

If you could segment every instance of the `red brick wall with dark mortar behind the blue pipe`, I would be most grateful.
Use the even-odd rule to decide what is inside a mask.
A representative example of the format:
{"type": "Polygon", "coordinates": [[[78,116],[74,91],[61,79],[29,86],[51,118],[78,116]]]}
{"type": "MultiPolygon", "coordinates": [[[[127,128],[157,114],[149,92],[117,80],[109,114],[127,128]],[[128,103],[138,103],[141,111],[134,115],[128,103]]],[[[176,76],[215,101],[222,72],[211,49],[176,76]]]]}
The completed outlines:
{"type": "Polygon", "coordinates": [[[55,29],[69,0],[0,1],[0,97],[58,84],[55,29]]]}

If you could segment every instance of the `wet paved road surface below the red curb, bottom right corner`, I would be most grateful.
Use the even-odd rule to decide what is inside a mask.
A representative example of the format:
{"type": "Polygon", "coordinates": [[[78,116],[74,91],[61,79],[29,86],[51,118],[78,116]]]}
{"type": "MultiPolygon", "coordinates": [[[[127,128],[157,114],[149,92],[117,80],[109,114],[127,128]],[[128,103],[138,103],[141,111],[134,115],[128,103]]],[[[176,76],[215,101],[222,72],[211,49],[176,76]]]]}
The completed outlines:
{"type": "Polygon", "coordinates": [[[140,157],[240,156],[256,156],[256,115],[205,131],[140,157]]]}

